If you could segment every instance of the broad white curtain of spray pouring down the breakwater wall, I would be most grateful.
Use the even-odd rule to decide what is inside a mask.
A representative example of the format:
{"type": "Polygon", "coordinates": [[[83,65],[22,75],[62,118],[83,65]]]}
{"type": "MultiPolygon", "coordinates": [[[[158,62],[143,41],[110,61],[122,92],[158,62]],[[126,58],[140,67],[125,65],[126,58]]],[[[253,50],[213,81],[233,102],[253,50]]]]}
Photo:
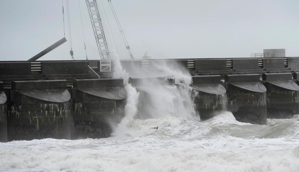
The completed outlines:
{"type": "MultiPolygon", "coordinates": [[[[153,81],[153,80],[151,80],[153,81]]],[[[139,119],[180,117],[193,119],[195,111],[185,85],[148,84],[140,89],[139,119]]]]}

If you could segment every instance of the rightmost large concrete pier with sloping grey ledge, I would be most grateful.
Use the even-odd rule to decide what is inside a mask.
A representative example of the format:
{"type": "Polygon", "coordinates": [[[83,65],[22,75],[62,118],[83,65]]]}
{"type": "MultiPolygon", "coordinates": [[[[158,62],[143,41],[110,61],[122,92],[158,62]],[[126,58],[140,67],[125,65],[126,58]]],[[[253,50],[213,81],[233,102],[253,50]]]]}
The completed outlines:
{"type": "Polygon", "coordinates": [[[292,73],[264,73],[268,118],[291,118],[299,113],[299,86],[292,73]]]}

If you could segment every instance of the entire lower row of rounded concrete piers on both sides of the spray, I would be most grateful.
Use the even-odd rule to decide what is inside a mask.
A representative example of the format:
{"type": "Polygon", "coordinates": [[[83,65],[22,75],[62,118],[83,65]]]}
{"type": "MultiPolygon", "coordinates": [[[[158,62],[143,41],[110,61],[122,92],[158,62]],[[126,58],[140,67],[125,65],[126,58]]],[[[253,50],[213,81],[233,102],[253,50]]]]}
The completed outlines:
{"type": "MultiPolygon", "coordinates": [[[[266,124],[267,117],[289,118],[299,113],[299,86],[292,73],[264,74],[263,80],[259,74],[225,75],[224,81],[219,75],[192,80],[195,109],[202,120],[221,110],[254,124],[266,124]]],[[[149,112],[159,110],[148,98],[156,94],[153,86],[172,89],[174,81],[174,77],[129,79],[140,92],[142,117],[153,118],[149,112]]],[[[10,91],[1,91],[1,142],[108,137],[112,125],[124,117],[126,94],[123,79],[76,79],[72,88],[67,88],[66,80],[12,81],[10,91]]]]}

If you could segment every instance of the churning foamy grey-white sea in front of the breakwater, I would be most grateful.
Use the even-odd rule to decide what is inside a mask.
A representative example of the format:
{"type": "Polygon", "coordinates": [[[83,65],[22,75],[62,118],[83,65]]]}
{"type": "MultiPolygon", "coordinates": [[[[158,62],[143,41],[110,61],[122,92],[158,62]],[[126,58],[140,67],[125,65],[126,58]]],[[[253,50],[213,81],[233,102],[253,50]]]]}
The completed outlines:
{"type": "Polygon", "coordinates": [[[0,143],[0,171],[297,172],[298,125],[298,115],[251,125],[230,112],[206,122],[134,119],[128,129],[135,135],[123,139],[0,143]]]}

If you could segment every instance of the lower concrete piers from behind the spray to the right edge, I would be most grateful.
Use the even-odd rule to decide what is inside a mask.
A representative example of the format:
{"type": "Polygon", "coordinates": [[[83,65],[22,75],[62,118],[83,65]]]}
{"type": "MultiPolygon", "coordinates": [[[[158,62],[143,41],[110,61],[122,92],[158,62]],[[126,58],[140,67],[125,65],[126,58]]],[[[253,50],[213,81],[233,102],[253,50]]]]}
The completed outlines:
{"type": "MultiPolygon", "coordinates": [[[[157,95],[157,85],[161,82],[174,85],[173,77],[157,79],[129,79],[140,92],[140,113],[153,113],[155,106],[151,97],[157,95]]],[[[266,124],[267,118],[291,118],[299,113],[299,86],[292,80],[292,73],[264,74],[261,79],[259,74],[225,75],[224,81],[220,75],[194,76],[190,86],[195,96],[195,109],[202,120],[228,110],[238,121],[253,124],[266,124]]],[[[151,117],[150,114],[145,116],[151,117]]]]}

